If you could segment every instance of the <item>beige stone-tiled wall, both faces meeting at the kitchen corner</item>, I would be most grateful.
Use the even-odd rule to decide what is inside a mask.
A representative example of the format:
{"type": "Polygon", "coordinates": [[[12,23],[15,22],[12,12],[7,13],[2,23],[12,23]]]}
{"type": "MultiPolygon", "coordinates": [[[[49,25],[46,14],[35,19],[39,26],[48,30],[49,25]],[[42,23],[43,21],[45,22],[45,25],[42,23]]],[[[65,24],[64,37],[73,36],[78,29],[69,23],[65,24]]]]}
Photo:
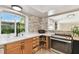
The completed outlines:
{"type": "Polygon", "coordinates": [[[28,20],[29,32],[38,32],[39,29],[47,30],[48,20],[47,18],[41,18],[37,16],[29,16],[28,20]]]}

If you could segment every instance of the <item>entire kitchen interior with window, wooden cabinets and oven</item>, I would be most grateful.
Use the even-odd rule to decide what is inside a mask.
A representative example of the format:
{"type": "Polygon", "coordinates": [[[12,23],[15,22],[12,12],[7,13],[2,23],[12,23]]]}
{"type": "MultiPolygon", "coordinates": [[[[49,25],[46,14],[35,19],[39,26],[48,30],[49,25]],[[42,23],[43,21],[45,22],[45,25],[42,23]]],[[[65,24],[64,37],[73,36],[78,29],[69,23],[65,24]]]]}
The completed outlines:
{"type": "Polygon", "coordinates": [[[78,7],[1,5],[0,54],[79,54],[78,7]]]}

